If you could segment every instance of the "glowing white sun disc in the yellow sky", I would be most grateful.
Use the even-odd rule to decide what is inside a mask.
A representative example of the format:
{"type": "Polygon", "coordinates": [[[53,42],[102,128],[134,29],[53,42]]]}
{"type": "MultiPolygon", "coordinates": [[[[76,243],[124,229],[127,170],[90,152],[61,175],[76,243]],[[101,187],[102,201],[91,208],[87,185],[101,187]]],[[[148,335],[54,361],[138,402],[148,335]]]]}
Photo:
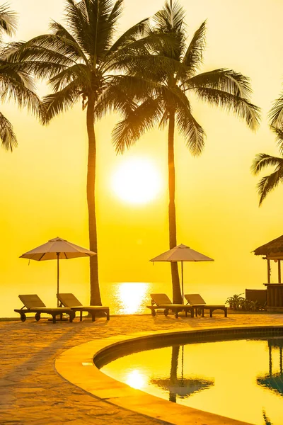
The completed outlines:
{"type": "Polygon", "coordinates": [[[115,170],[112,189],[127,203],[149,203],[161,191],[161,176],[149,159],[131,158],[115,170]]]}

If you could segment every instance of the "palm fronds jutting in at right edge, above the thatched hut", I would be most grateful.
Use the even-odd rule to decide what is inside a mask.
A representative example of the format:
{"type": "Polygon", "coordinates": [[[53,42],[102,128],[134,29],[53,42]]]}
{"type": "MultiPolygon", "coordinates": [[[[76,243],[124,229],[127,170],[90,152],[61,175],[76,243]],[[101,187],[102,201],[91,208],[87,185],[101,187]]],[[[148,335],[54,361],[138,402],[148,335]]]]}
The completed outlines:
{"type": "Polygon", "coordinates": [[[257,154],[253,160],[251,170],[253,174],[258,175],[262,169],[268,166],[275,166],[275,171],[268,176],[262,177],[258,183],[258,194],[260,203],[267,197],[268,193],[273,191],[279,183],[283,183],[283,131],[280,128],[270,125],[270,129],[275,132],[277,146],[279,147],[280,157],[272,157],[268,154],[257,154]]]}

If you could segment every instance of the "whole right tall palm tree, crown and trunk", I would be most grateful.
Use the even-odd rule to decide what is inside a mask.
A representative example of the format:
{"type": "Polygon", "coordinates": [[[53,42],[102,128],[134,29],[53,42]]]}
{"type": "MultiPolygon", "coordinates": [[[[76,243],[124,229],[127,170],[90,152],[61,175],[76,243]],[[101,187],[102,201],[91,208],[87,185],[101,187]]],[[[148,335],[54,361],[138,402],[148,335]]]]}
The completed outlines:
{"type": "MultiPolygon", "coordinates": [[[[175,2],[166,1],[161,11],[156,13],[154,35],[170,35],[173,46],[163,45],[156,51],[147,50],[148,56],[156,57],[158,66],[146,67],[145,51],[142,60],[134,62],[131,68],[136,77],[143,76],[152,81],[152,89],[143,98],[137,98],[123,111],[123,120],[117,123],[112,132],[117,152],[124,152],[136,142],[146,130],[156,123],[164,128],[168,125],[168,191],[169,191],[169,246],[177,245],[175,216],[175,128],[185,139],[185,144],[197,156],[204,149],[204,129],[192,115],[188,95],[196,94],[208,103],[233,111],[238,118],[246,121],[255,130],[259,122],[259,109],[250,103],[250,84],[247,77],[231,69],[214,69],[197,74],[202,64],[204,50],[205,21],[193,35],[186,47],[185,12],[175,2]],[[142,64],[142,66],[141,66],[142,64]],[[163,65],[163,66],[162,66],[163,65]]],[[[182,302],[177,263],[171,263],[173,302],[182,302]]]]}

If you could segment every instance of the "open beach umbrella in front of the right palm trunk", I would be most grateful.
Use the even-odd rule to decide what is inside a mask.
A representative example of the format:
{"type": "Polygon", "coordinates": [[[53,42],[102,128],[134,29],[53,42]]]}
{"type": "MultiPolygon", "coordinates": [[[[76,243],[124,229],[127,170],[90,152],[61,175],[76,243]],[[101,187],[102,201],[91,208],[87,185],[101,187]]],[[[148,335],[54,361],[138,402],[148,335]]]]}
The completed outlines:
{"type": "Polygon", "coordinates": [[[163,252],[154,259],[149,261],[169,261],[171,263],[180,261],[181,262],[181,274],[182,274],[182,297],[184,302],[184,279],[183,279],[183,261],[214,261],[204,254],[200,254],[200,252],[195,251],[195,249],[190,248],[190,246],[186,246],[180,244],[170,249],[169,251],[163,252]]]}

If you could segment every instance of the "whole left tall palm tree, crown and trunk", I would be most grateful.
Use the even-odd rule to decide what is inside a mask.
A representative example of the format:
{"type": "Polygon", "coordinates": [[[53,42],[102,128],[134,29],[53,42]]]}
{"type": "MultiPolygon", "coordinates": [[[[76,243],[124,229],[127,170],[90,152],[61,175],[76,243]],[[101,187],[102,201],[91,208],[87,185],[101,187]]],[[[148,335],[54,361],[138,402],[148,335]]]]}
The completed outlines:
{"type": "MultiPolygon", "coordinates": [[[[154,45],[144,36],[147,20],[115,39],[123,0],[66,0],[67,26],[51,23],[51,33],[28,42],[16,42],[7,51],[9,60],[21,61],[22,69],[47,79],[54,91],[42,101],[41,120],[47,124],[81,100],[86,108],[88,132],[87,202],[91,251],[98,252],[96,231],[96,133],[95,123],[110,108],[124,111],[125,96],[142,87],[138,77],[127,76],[127,68],[138,48],[154,45]],[[125,72],[119,74],[125,69],[125,72]],[[110,102],[105,100],[105,91],[110,102]]],[[[157,37],[158,38],[158,37],[157,37]]],[[[156,39],[157,39],[156,38],[156,39]]],[[[101,305],[98,256],[90,258],[91,304],[101,305]]]]}

